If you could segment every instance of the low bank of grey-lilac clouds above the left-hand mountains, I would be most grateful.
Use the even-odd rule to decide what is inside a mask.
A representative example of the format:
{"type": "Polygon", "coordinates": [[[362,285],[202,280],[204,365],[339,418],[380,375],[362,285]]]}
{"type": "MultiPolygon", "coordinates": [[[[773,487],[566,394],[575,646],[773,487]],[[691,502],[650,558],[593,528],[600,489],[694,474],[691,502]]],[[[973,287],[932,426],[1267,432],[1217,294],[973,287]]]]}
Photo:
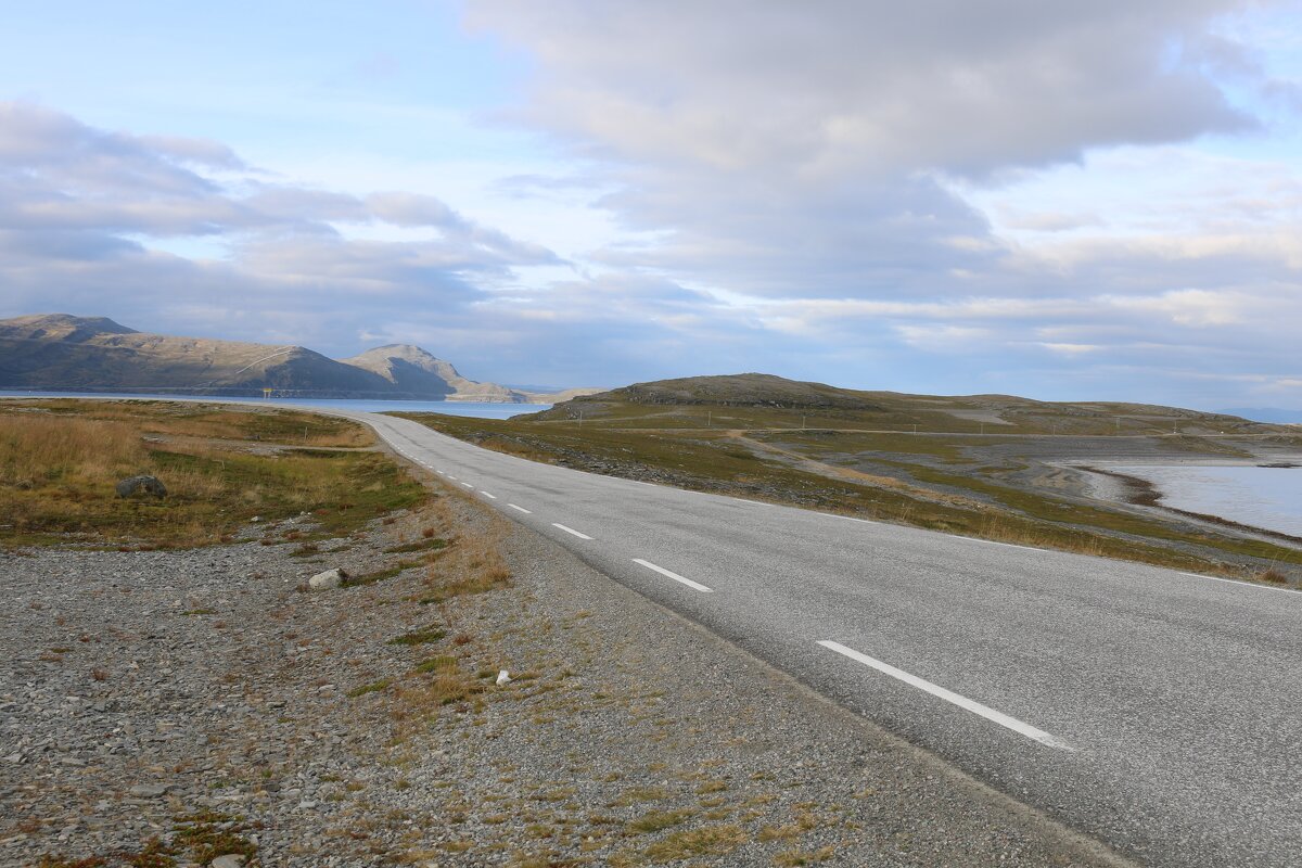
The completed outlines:
{"type": "MultiPolygon", "coordinates": [[[[217,142],[100,130],[0,103],[0,315],[65,310],[139,328],[346,344],[359,319],[475,305],[549,250],[409,193],[267,183],[217,142]],[[417,229],[404,241],[352,226],[417,229]],[[164,242],[204,237],[216,256],[164,242]]],[[[350,347],[353,349],[353,347],[350,347]]]]}

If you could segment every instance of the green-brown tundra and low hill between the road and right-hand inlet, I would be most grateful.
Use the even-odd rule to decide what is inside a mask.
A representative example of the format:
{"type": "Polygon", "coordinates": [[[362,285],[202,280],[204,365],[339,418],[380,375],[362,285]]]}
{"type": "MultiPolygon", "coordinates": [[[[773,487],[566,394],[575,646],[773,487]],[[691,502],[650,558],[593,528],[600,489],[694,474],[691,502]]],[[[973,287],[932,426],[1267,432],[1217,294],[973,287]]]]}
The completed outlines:
{"type": "MultiPolygon", "coordinates": [[[[499,452],[646,481],[1276,583],[1302,540],[1091,497],[1109,461],[1271,461],[1295,427],[1131,403],[853,392],[763,375],[579,397],[506,420],[408,415],[499,452]]],[[[1302,472],[1302,471],[1298,471],[1302,472]]],[[[1118,484],[1124,480],[1117,480],[1118,484]]],[[[1148,495],[1151,501],[1151,495],[1148,495]]]]}

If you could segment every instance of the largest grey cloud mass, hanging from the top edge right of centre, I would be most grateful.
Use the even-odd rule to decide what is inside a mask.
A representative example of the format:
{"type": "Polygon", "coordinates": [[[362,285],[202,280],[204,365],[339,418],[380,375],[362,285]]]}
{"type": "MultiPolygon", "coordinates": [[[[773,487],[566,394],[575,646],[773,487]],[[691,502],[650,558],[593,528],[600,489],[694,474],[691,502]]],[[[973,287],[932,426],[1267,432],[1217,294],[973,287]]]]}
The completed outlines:
{"type": "Polygon", "coordinates": [[[1047,262],[963,185],[1259,126],[1216,78],[1263,79],[1249,46],[1213,33],[1241,8],[483,0],[467,20],[534,55],[512,117],[586,157],[611,190],[598,206],[637,233],[594,263],[756,297],[953,298],[1043,292],[1026,273],[1047,262]]]}

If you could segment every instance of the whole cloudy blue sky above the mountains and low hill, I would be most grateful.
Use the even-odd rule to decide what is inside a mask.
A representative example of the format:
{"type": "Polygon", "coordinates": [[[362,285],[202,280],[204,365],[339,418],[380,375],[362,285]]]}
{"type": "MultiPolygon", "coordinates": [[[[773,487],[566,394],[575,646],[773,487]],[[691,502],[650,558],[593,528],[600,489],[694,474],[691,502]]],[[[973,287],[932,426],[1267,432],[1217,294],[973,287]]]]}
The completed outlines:
{"type": "Polygon", "coordinates": [[[1302,410],[1302,0],[14,4],[0,318],[1302,410]]]}

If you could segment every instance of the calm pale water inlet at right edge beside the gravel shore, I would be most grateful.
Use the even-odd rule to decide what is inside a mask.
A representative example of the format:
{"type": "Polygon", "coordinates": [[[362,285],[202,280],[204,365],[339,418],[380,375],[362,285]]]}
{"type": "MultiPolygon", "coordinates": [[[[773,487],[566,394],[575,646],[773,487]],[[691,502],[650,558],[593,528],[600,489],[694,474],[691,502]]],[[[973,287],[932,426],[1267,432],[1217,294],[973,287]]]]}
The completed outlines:
{"type": "Polygon", "coordinates": [[[1147,479],[1164,506],[1302,536],[1302,467],[1118,467],[1147,479]]]}

